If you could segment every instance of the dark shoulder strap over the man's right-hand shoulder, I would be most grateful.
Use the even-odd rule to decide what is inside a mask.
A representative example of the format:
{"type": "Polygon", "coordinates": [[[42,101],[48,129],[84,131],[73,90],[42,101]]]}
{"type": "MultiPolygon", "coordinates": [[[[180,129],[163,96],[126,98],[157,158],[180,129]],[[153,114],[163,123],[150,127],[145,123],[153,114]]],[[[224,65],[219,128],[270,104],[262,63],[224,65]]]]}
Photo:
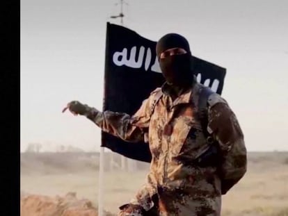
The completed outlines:
{"type": "Polygon", "coordinates": [[[208,125],[208,98],[211,94],[214,92],[206,86],[202,86],[199,90],[199,100],[198,100],[198,113],[199,113],[199,119],[200,119],[200,124],[202,127],[202,131],[205,135],[206,138],[208,138],[209,133],[207,131],[207,125],[208,125]]]}

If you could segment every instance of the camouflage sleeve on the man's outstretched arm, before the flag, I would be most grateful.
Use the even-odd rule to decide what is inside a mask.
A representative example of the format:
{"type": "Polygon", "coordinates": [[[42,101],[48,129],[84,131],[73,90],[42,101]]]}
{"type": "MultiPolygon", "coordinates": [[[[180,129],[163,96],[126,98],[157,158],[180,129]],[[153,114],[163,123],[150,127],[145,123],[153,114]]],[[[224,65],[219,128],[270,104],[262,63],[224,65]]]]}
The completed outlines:
{"type": "Polygon", "coordinates": [[[94,122],[102,131],[115,135],[127,142],[145,141],[150,122],[150,106],[154,99],[155,91],[145,99],[141,108],[133,115],[117,113],[106,110],[99,112],[95,108],[89,108],[86,117],[94,122]]]}

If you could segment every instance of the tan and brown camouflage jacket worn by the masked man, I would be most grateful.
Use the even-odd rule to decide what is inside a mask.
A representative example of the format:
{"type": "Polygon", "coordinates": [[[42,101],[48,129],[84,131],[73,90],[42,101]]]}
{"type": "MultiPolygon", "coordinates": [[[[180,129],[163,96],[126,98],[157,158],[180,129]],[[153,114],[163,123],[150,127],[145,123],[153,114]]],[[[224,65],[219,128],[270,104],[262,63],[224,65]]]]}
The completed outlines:
{"type": "Polygon", "coordinates": [[[200,167],[194,159],[209,144],[198,115],[200,83],[174,101],[162,88],[154,90],[133,115],[99,112],[91,108],[86,117],[103,131],[128,142],[149,142],[150,172],[131,203],[149,210],[159,205],[160,215],[220,215],[221,194],[225,194],[246,173],[246,147],[239,122],[227,102],[218,94],[208,99],[207,131],[218,141],[218,166],[200,167]],[[150,108],[158,91],[163,97],[150,108]],[[157,194],[159,203],[152,196],[157,194]]]}

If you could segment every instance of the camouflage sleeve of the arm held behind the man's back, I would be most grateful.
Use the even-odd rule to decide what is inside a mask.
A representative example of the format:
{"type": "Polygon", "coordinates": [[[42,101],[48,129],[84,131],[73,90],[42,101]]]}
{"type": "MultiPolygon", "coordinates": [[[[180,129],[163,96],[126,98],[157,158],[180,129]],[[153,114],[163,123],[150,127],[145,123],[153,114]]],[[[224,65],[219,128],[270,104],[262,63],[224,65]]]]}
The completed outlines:
{"type": "Polygon", "coordinates": [[[214,135],[221,150],[219,174],[222,194],[226,194],[246,173],[247,152],[243,132],[227,102],[218,94],[212,94],[208,101],[210,107],[207,131],[214,135]]]}

